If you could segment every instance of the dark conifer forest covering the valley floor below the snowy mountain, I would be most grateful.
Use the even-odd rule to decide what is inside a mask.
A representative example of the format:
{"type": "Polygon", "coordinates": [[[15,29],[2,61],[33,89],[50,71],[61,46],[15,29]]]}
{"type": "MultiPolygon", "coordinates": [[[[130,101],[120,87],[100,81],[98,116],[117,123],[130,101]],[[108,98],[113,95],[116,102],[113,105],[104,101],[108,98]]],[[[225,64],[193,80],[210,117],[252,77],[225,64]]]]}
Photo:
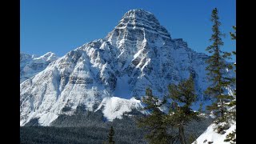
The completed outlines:
{"type": "MultiPolygon", "coordinates": [[[[82,106],[81,106],[82,107],[82,106]]],[[[129,114],[138,116],[138,111],[129,114]]],[[[33,120],[34,123],[37,120],[33,120]]],[[[191,122],[186,126],[186,135],[197,138],[207,126],[213,122],[211,118],[205,118],[202,122],[191,122]]],[[[82,111],[78,109],[72,116],[61,115],[51,126],[22,126],[20,129],[21,143],[108,143],[110,126],[114,127],[114,142],[116,144],[148,143],[143,138],[146,130],[138,128],[135,117],[128,117],[125,114],[122,119],[114,119],[113,122],[106,122],[101,110],[98,112],[82,111]]],[[[189,137],[191,138],[191,137],[189,137]]],[[[189,139],[188,138],[188,139],[189,139]]]]}

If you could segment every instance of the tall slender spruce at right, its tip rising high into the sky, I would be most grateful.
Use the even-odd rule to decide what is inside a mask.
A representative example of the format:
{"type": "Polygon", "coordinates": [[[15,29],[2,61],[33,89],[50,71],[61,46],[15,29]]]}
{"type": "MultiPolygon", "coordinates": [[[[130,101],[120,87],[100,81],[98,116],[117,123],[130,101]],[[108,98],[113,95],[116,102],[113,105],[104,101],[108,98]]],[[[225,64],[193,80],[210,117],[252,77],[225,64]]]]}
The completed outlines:
{"type": "Polygon", "coordinates": [[[214,98],[214,102],[211,106],[207,106],[207,110],[214,110],[215,114],[219,116],[219,120],[224,120],[224,114],[226,113],[226,102],[230,102],[233,97],[224,94],[227,87],[232,84],[234,79],[226,76],[226,69],[232,69],[232,65],[226,62],[226,59],[230,59],[230,53],[221,50],[224,42],[222,42],[222,32],[220,31],[221,22],[218,18],[218,10],[215,8],[212,10],[211,22],[213,34],[211,35],[210,42],[212,45],[206,48],[211,55],[206,60],[208,66],[206,67],[208,81],[211,82],[205,94],[211,98],[214,98]]]}

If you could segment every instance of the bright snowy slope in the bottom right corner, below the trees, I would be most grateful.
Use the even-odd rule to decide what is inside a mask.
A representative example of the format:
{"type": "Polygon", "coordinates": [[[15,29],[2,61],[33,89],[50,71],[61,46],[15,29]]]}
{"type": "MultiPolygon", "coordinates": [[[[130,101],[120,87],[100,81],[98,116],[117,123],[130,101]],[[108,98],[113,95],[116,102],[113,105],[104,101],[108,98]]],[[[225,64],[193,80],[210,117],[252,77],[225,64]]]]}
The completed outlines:
{"type": "Polygon", "coordinates": [[[226,135],[230,134],[233,130],[236,129],[236,122],[234,122],[233,124],[231,124],[230,128],[228,130],[226,130],[225,134],[218,134],[214,131],[214,128],[217,127],[218,125],[216,124],[211,124],[207,130],[202,133],[195,142],[193,142],[192,144],[208,144],[208,142],[213,142],[216,144],[227,144],[230,142],[224,142],[224,139],[226,139],[226,135]]]}

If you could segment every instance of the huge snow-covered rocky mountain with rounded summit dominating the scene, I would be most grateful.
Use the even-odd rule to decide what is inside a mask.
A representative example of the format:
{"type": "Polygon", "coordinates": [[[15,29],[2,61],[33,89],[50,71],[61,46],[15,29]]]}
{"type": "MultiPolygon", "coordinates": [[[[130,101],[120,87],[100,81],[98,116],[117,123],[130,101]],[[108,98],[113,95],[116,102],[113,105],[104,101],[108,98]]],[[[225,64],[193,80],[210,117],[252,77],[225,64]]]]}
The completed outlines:
{"type": "Polygon", "coordinates": [[[146,87],[163,96],[170,83],[190,74],[202,100],[209,85],[206,58],[182,38],[171,38],[154,14],[129,10],[106,38],[71,50],[21,83],[20,125],[38,118],[49,126],[59,114],[74,114],[79,105],[90,111],[103,106],[109,120],[121,118],[120,107],[129,111],[140,106],[132,97],[142,97],[146,87]]]}

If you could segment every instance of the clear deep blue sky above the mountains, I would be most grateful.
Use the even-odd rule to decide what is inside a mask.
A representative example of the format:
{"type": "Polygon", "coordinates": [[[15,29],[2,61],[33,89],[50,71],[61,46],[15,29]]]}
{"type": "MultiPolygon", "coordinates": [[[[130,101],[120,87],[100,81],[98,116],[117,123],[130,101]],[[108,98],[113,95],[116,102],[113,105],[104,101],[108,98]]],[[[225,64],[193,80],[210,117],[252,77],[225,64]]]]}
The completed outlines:
{"type": "Polygon", "coordinates": [[[188,46],[205,52],[212,34],[211,10],[217,7],[222,22],[223,50],[235,50],[230,40],[236,25],[235,0],[22,0],[21,51],[63,56],[86,42],[104,38],[126,11],[153,13],[171,38],[183,38],[188,46]]]}

